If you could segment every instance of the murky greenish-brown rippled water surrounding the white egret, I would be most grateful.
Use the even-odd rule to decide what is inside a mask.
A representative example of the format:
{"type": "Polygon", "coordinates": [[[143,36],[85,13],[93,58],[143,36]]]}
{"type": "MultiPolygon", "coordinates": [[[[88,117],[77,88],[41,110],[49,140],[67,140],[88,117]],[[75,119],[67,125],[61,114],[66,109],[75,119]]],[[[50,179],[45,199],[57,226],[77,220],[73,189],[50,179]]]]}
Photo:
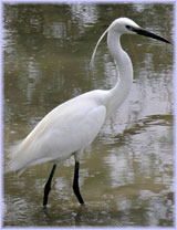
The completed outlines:
{"type": "MultiPolygon", "coordinates": [[[[97,39],[118,17],[173,41],[173,4],[6,4],[4,163],[11,147],[62,102],[116,82],[106,42],[88,62],[97,39]]],[[[86,207],[72,191],[73,158],[58,166],[49,208],[43,187],[51,164],[21,177],[4,176],[6,227],[174,226],[173,45],[123,38],[134,64],[124,105],[103,127],[81,161],[86,207]]]]}

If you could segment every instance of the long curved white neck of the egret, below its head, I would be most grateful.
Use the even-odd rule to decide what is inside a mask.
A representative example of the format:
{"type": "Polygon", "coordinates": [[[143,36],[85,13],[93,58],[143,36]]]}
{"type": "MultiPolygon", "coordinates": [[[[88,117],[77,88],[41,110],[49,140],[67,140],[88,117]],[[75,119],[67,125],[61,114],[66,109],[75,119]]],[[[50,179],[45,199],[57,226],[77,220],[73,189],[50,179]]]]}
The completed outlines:
{"type": "Polygon", "coordinates": [[[133,83],[133,66],[128,54],[122,49],[119,42],[121,34],[114,30],[110,30],[107,34],[107,45],[112,54],[116,71],[117,83],[110,90],[107,102],[107,116],[112,114],[127,97],[133,83]]]}

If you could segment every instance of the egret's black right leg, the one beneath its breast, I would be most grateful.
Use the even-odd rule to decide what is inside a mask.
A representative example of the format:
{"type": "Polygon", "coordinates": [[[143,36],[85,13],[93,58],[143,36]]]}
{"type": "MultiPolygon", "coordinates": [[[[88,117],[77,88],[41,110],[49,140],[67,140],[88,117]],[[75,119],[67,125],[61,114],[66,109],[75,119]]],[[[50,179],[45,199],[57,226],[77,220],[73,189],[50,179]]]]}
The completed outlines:
{"type": "Polygon", "coordinates": [[[79,187],[79,170],[80,170],[80,163],[75,161],[75,169],[74,169],[74,181],[73,181],[73,190],[74,194],[79,200],[79,202],[84,206],[84,200],[82,199],[82,196],[80,194],[80,187],[79,187]]]}

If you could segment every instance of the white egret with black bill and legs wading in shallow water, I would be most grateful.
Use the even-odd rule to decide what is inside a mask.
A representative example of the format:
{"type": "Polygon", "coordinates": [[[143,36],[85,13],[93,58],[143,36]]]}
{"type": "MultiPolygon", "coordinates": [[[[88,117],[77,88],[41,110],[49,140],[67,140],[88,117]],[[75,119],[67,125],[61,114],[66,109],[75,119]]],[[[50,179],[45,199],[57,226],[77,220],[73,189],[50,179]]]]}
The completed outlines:
{"type": "Polygon", "coordinates": [[[127,18],[116,19],[100,38],[92,55],[94,60],[97,45],[107,33],[107,46],[117,71],[117,83],[108,90],[94,90],[59,105],[34,127],[27,138],[17,147],[9,164],[9,171],[21,174],[29,166],[52,161],[53,167],[44,187],[43,206],[48,203],[51,181],[56,164],[72,155],[75,159],[73,190],[81,205],[84,200],[80,194],[80,158],[97,136],[102,126],[127,97],[133,83],[133,66],[128,54],[121,46],[121,35],[139,34],[166,43],[166,39],[142,29],[127,18]]]}

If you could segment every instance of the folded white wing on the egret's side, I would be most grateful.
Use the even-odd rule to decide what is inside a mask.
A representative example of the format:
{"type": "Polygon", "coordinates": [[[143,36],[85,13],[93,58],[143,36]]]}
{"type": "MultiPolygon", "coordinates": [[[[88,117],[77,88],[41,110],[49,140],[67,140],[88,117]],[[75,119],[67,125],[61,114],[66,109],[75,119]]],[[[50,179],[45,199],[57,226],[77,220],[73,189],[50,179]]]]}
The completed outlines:
{"type": "Polygon", "coordinates": [[[105,106],[93,101],[71,101],[58,106],[21,143],[9,170],[69,158],[93,142],[105,117],[105,106]]]}

